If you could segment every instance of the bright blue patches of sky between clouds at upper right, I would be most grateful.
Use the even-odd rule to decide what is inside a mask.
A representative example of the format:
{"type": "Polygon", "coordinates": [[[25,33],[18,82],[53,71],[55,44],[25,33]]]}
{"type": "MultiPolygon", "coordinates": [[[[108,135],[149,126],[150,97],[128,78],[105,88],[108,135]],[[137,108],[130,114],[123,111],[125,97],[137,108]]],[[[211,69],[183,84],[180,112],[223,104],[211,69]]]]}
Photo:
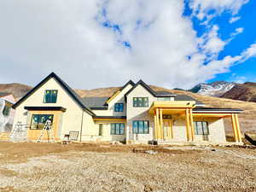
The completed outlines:
{"type": "MultiPolygon", "coordinates": [[[[230,11],[224,11],[222,15],[210,21],[211,25],[219,26],[219,36],[223,39],[228,38],[230,33],[237,27],[243,27],[244,31],[237,35],[229,44],[224,47],[224,50],[219,52],[218,59],[223,59],[225,55],[238,55],[243,49],[246,49],[250,44],[256,42],[256,1],[249,1],[244,4],[237,16],[241,19],[230,24],[230,11]]],[[[186,7],[184,15],[189,15],[191,9],[186,7]]],[[[201,26],[201,20],[195,17],[192,19],[195,30],[201,34],[204,32],[205,26],[201,26]]],[[[217,80],[237,81],[239,83],[246,81],[256,81],[256,58],[252,57],[241,64],[230,67],[230,72],[216,74],[213,79],[207,82],[217,80]]]]}

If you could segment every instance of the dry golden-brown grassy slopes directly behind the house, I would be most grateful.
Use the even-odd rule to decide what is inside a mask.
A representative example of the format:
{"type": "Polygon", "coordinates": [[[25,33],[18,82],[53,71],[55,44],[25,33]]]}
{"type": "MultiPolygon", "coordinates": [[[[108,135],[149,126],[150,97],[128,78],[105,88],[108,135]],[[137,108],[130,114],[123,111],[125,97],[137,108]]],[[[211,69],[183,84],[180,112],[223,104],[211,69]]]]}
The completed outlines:
{"type": "MultiPolygon", "coordinates": [[[[253,92],[253,87],[255,83],[246,83],[246,86],[250,90],[250,93],[253,92]]],[[[206,107],[209,108],[241,108],[243,112],[239,115],[241,122],[241,129],[245,131],[256,131],[256,102],[241,102],[238,100],[219,98],[216,96],[202,96],[198,93],[193,93],[187,90],[168,90],[162,87],[150,85],[150,87],[155,91],[169,91],[175,94],[182,94],[192,96],[201,102],[206,104],[206,107]]],[[[213,87],[213,86],[212,86],[213,87]]],[[[234,86],[234,89],[236,87],[234,86]]],[[[0,84],[0,92],[11,92],[16,99],[19,99],[21,96],[24,96],[26,92],[31,90],[32,87],[27,86],[26,84],[0,84]]],[[[75,90],[79,96],[112,96],[113,93],[118,90],[119,87],[109,87],[109,88],[100,88],[94,90],[75,90]]],[[[233,89],[233,88],[232,88],[233,89]]],[[[232,90],[231,89],[231,90],[232,90]]],[[[254,92],[253,92],[254,93],[254,92]]],[[[232,95],[232,94],[230,94],[232,95]]],[[[250,96],[252,100],[253,96],[250,96]]],[[[224,124],[226,125],[226,132],[232,134],[232,128],[230,124],[230,118],[224,119],[224,124]]]]}

